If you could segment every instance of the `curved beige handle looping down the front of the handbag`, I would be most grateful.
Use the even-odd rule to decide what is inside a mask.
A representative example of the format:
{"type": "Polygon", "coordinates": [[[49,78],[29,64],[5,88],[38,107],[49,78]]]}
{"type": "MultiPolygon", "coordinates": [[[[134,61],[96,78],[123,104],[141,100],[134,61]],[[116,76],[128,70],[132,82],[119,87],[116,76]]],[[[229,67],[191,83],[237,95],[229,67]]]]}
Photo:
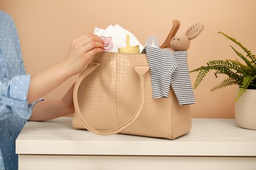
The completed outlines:
{"type": "Polygon", "coordinates": [[[142,109],[144,107],[144,101],[145,101],[144,79],[145,79],[145,75],[149,71],[150,67],[149,66],[135,66],[135,71],[139,75],[139,78],[140,78],[141,101],[140,101],[139,109],[137,109],[137,111],[135,112],[133,117],[130,120],[128,120],[125,124],[115,128],[115,129],[99,130],[99,129],[95,129],[94,127],[90,126],[86,122],[86,120],[84,120],[83,116],[81,115],[81,111],[80,111],[78,103],[77,103],[77,92],[78,92],[79,85],[81,84],[83,79],[86,76],[88,76],[89,74],[91,74],[93,71],[95,71],[95,69],[97,67],[99,67],[100,65],[102,65],[102,64],[95,63],[95,62],[89,63],[87,69],[85,69],[85,71],[83,71],[83,73],[81,73],[81,75],[79,75],[79,78],[78,78],[77,82],[75,83],[75,88],[74,88],[74,107],[75,107],[75,112],[76,112],[78,118],[81,120],[83,126],[85,126],[86,129],[88,129],[89,131],[96,133],[98,135],[112,135],[112,134],[119,133],[119,132],[123,131],[123,129],[126,129],[127,127],[131,126],[131,124],[133,124],[133,122],[135,122],[135,120],[137,120],[137,118],[140,116],[140,113],[142,112],[142,109]]]}

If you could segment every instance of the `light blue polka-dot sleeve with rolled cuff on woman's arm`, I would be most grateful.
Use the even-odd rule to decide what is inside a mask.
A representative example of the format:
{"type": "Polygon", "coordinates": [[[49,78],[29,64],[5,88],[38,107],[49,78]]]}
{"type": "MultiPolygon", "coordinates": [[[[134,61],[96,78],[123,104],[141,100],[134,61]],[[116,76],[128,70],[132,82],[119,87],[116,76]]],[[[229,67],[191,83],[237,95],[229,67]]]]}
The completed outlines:
{"type": "Polygon", "coordinates": [[[28,119],[32,105],[28,105],[30,75],[26,75],[20,52],[20,41],[9,14],[0,10],[0,120],[9,116],[28,119]]]}

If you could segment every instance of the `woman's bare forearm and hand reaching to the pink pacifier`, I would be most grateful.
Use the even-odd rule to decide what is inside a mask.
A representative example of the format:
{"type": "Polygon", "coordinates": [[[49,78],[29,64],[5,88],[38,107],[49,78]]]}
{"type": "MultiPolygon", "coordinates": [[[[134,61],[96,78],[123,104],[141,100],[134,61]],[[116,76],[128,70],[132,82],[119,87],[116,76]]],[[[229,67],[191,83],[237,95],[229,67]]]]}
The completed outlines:
{"type": "Polygon", "coordinates": [[[87,33],[75,39],[66,58],[61,63],[32,76],[28,103],[43,97],[71,76],[80,73],[95,54],[103,52],[103,48],[104,42],[102,39],[92,33],[87,33]]]}

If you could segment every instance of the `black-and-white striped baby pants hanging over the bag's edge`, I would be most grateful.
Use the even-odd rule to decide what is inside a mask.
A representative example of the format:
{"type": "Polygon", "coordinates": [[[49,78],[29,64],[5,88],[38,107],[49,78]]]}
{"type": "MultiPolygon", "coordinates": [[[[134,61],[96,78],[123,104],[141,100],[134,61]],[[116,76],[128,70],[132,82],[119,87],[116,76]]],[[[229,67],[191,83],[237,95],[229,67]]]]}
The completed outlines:
{"type": "Polygon", "coordinates": [[[145,46],[142,53],[146,53],[150,65],[153,98],[168,97],[171,86],[179,105],[196,103],[186,51],[171,52],[168,48],[145,46]]]}

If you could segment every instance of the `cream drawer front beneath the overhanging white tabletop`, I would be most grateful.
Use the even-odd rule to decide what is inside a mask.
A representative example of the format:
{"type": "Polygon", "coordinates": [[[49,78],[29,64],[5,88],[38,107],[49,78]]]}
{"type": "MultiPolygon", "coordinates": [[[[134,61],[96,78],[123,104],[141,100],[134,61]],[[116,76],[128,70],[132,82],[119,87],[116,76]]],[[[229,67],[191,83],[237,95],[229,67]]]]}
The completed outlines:
{"type": "Polygon", "coordinates": [[[256,157],[19,155],[19,170],[255,169],[256,157]]]}

